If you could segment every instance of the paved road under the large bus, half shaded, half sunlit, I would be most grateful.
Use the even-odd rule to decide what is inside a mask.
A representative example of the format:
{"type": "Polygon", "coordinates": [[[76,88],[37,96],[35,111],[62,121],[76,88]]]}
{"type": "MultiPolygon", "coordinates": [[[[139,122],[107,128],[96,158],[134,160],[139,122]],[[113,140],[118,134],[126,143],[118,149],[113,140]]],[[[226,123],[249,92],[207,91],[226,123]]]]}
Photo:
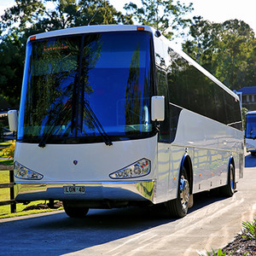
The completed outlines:
{"type": "Polygon", "coordinates": [[[256,214],[256,158],[232,198],[202,193],[185,218],[162,207],[90,210],[84,219],[51,212],[0,220],[0,255],[199,255],[233,240],[256,214]]]}

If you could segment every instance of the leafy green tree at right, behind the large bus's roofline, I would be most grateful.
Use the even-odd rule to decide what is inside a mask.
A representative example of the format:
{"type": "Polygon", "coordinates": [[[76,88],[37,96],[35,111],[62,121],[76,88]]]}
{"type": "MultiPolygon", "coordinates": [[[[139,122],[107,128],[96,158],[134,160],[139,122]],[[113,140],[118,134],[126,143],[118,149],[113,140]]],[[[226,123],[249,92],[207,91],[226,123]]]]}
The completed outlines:
{"type": "Polygon", "coordinates": [[[212,23],[194,17],[190,35],[192,40],[183,49],[231,90],[256,84],[256,39],[247,23],[212,23]]]}

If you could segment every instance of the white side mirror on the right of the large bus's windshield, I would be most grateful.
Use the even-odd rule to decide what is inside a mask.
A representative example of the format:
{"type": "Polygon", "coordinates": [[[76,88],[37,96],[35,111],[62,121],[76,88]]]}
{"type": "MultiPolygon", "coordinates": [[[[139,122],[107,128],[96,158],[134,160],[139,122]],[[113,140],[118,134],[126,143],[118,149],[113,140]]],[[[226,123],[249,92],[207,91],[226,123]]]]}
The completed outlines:
{"type": "Polygon", "coordinates": [[[152,96],[151,119],[152,121],[163,121],[165,119],[165,96],[152,96]]]}

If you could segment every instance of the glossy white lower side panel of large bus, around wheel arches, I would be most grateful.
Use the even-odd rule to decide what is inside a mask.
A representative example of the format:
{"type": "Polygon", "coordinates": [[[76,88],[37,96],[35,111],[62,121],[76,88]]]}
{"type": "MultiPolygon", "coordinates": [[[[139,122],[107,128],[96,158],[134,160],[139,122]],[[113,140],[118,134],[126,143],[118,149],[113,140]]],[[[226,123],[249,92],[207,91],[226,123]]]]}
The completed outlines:
{"type": "MultiPolygon", "coordinates": [[[[168,180],[168,184],[165,184],[168,198],[177,197],[177,189],[173,188],[177,187],[177,177],[185,154],[192,161],[194,194],[225,185],[228,182],[231,157],[235,161],[236,181],[241,178],[242,137],[242,131],[183,109],[178,119],[174,142],[171,145],[159,144],[161,176],[158,181],[168,180]]],[[[164,182],[162,187],[163,184],[164,182]]],[[[164,197],[161,196],[162,200],[164,197]]]]}

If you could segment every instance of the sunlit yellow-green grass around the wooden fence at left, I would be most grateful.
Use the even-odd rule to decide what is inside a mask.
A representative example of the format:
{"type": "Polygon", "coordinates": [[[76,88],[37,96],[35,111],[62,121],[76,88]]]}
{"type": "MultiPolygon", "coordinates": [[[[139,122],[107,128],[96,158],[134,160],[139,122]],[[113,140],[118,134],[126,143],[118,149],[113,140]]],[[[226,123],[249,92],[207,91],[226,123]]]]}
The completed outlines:
{"type": "MultiPolygon", "coordinates": [[[[0,143],[0,148],[1,148],[1,145],[8,146],[8,145],[10,145],[10,143],[11,142],[0,143]]],[[[1,151],[2,150],[0,149],[0,156],[3,155],[1,151]]],[[[1,160],[0,159],[0,165],[11,166],[13,164],[14,164],[14,161],[11,159],[10,160],[1,160]]],[[[0,171],[0,183],[9,183],[9,171],[0,171]]],[[[10,199],[9,189],[0,189],[0,201],[8,201],[9,199],[10,199]]],[[[10,218],[10,217],[17,217],[17,216],[23,216],[23,215],[28,215],[28,214],[35,214],[35,213],[39,213],[39,212],[56,211],[55,209],[23,211],[26,207],[35,206],[35,205],[38,205],[39,203],[45,203],[45,201],[32,201],[28,205],[23,205],[22,203],[17,203],[16,204],[16,213],[11,213],[10,205],[9,206],[0,206],[0,218],[10,218]]],[[[62,207],[59,209],[62,209],[62,207]]]]}

